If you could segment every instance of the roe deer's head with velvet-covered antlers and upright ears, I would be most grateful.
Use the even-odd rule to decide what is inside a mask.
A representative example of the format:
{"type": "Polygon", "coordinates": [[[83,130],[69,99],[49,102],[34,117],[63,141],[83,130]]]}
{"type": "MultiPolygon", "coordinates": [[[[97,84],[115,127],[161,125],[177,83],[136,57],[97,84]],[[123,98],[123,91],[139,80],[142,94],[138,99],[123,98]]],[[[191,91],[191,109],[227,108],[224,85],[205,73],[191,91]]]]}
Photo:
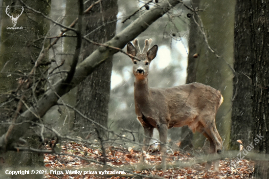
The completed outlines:
{"type": "Polygon", "coordinates": [[[133,61],[133,73],[136,79],[144,79],[148,76],[149,65],[151,61],[156,57],[158,45],[154,45],[151,49],[148,50],[149,45],[151,44],[152,39],[145,40],[145,46],[141,52],[138,45],[138,40],[135,39],[132,43],[127,44],[127,52],[136,58],[131,58],[133,61]]]}

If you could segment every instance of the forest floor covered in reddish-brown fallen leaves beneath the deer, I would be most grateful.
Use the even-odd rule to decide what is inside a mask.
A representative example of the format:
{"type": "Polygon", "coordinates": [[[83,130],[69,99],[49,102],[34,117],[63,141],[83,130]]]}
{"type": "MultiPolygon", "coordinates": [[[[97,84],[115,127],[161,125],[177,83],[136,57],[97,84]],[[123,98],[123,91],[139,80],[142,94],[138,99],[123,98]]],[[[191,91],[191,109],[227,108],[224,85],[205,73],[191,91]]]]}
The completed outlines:
{"type": "MultiPolygon", "coordinates": [[[[49,145],[46,148],[51,149],[49,145]]],[[[155,167],[137,172],[135,167],[139,166],[141,153],[133,148],[112,146],[104,149],[106,168],[101,165],[104,158],[100,148],[91,149],[85,144],[64,142],[61,149],[61,155],[45,154],[45,179],[253,179],[254,162],[246,159],[236,163],[228,158],[221,160],[220,172],[205,171],[205,163],[192,167],[174,167],[165,172],[155,167]]],[[[167,162],[187,162],[192,158],[190,154],[173,151],[173,154],[167,155],[167,162]]],[[[145,155],[145,161],[151,166],[157,166],[160,164],[160,155],[152,150],[145,155]]]]}

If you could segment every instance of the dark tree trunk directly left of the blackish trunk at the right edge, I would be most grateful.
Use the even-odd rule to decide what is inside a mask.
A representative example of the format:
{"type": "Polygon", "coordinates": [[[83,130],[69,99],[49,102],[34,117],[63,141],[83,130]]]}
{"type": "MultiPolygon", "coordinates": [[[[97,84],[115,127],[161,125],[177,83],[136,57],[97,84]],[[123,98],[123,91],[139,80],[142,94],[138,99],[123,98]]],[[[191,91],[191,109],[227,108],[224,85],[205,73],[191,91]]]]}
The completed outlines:
{"type": "Polygon", "coordinates": [[[233,108],[230,149],[238,150],[240,139],[244,146],[252,140],[252,82],[251,82],[251,39],[249,1],[237,0],[234,29],[233,108]]]}

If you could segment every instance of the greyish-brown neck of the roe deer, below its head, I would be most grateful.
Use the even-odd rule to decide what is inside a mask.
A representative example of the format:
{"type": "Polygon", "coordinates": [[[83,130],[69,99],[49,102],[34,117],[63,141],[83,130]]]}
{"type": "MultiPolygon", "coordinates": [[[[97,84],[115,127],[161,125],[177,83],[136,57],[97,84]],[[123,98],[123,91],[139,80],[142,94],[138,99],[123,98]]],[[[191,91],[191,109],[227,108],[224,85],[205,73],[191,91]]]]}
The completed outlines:
{"type": "Polygon", "coordinates": [[[150,104],[151,92],[148,85],[148,78],[136,79],[134,81],[134,102],[140,107],[150,104]]]}

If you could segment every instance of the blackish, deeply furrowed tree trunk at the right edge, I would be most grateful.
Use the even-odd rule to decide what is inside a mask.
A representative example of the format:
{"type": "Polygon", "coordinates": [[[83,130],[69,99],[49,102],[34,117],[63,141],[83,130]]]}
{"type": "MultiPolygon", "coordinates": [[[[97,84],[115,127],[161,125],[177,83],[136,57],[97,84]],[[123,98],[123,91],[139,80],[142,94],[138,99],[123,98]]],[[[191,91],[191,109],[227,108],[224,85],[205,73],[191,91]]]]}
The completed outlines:
{"type": "MultiPolygon", "coordinates": [[[[254,148],[269,154],[269,5],[268,2],[252,0],[250,7],[253,136],[263,136],[259,141],[254,140],[254,148]]],[[[254,177],[269,178],[268,161],[256,162],[254,177]]]]}

